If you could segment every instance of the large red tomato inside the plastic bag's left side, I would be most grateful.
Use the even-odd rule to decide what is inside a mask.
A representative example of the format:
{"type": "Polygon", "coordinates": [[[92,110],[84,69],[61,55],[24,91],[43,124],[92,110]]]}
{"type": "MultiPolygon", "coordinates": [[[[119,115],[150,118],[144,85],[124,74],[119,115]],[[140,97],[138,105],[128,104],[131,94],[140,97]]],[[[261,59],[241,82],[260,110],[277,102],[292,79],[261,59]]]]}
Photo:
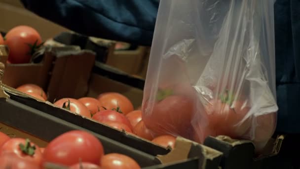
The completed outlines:
{"type": "Polygon", "coordinates": [[[143,107],[145,125],[157,135],[174,134],[186,136],[187,128],[191,127],[191,117],[194,113],[194,102],[184,95],[170,95],[154,103],[153,109],[143,107]]]}

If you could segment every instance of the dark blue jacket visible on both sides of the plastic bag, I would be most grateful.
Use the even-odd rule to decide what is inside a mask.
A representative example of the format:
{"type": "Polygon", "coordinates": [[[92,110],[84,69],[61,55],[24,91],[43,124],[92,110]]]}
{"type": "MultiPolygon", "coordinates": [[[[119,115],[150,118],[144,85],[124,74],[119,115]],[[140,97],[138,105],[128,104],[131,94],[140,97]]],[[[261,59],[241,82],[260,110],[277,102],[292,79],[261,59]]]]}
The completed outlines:
{"type": "MultiPolygon", "coordinates": [[[[78,33],[141,45],[151,45],[159,4],[159,0],[21,1],[39,16],[78,33]]],[[[274,6],[277,131],[300,133],[300,0],[277,0],[274,6]]]]}

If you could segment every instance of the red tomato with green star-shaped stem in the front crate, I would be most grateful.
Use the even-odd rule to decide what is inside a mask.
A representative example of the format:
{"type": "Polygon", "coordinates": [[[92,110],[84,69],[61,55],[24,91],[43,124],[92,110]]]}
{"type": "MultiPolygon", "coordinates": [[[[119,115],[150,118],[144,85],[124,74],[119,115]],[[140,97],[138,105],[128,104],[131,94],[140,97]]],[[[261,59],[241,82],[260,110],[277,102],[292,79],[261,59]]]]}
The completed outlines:
{"type": "Polygon", "coordinates": [[[7,140],[0,148],[0,156],[5,154],[14,154],[16,157],[25,159],[35,165],[40,165],[42,162],[39,147],[28,139],[11,138],[7,140]]]}

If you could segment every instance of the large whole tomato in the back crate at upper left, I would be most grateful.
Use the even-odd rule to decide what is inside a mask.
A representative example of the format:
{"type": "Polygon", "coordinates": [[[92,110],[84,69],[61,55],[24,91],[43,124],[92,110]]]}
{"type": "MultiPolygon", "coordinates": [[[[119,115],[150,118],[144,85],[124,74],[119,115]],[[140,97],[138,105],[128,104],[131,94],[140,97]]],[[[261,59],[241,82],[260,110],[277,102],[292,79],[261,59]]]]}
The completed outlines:
{"type": "Polygon", "coordinates": [[[41,44],[41,38],[34,28],[21,25],[7,32],[4,43],[9,48],[8,60],[11,63],[29,63],[41,44]]]}

